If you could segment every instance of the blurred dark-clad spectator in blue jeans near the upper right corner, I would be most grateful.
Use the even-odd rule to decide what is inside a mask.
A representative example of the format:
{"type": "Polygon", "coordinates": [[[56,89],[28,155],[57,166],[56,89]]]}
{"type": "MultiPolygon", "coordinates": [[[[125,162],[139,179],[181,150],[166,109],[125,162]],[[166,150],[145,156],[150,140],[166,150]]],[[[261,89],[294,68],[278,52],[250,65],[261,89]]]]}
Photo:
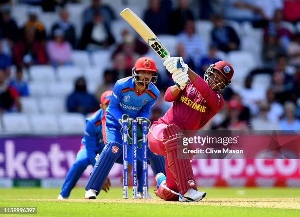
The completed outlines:
{"type": "Polygon", "coordinates": [[[272,21],[269,22],[268,26],[264,29],[264,41],[266,41],[269,34],[273,34],[279,40],[280,45],[286,50],[290,43],[292,33],[282,22],[282,11],[279,9],[275,10],[272,21]]]}

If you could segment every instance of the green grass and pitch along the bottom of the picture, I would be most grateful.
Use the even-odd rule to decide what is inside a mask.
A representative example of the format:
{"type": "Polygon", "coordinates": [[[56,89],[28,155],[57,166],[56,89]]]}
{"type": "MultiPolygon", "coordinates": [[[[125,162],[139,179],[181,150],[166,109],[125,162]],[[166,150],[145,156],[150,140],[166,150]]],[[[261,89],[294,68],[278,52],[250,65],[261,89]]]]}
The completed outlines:
{"type": "MultiPolygon", "coordinates": [[[[201,189],[202,190],[202,189],[201,189]]],[[[3,215],[8,217],[71,216],[71,217],[299,217],[298,188],[207,188],[207,197],[198,203],[167,202],[160,199],[122,199],[122,189],[101,192],[96,200],[86,200],[84,189],[76,188],[70,199],[57,201],[59,189],[0,189],[0,206],[35,206],[38,214],[3,215]]],[[[150,190],[153,192],[153,189],[150,190]]],[[[0,217],[2,215],[0,214],[0,217]]]]}

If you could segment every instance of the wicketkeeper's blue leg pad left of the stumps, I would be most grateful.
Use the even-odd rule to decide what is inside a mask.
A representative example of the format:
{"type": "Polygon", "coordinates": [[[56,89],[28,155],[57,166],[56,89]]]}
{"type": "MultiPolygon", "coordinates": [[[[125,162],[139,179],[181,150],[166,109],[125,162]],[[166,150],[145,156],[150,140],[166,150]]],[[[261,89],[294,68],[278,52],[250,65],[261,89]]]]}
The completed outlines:
{"type": "Polygon", "coordinates": [[[105,145],[85,186],[86,191],[94,189],[97,191],[97,195],[100,193],[100,189],[110,169],[112,169],[115,161],[122,152],[123,146],[117,142],[110,142],[105,145]]]}

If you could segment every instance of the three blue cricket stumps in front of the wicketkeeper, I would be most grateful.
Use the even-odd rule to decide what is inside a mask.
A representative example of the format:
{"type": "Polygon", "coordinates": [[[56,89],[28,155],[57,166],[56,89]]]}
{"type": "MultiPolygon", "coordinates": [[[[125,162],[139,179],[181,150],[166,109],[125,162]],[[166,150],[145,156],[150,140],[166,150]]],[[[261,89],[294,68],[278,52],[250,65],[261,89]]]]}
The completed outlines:
{"type": "Polygon", "coordinates": [[[137,124],[142,124],[142,159],[143,159],[143,198],[147,198],[148,193],[148,157],[147,157],[147,121],[143,119],[123,121],[123,198],[128,198],[128,142],[127,142],[127,122],[132,124],[132,198],[137,198],[137,124]]]}

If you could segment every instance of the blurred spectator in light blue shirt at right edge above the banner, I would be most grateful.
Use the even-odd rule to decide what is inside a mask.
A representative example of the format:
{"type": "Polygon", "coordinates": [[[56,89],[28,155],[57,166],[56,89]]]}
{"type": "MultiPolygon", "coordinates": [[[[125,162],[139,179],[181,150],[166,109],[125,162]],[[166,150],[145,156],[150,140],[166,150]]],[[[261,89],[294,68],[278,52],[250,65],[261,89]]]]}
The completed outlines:
{"type": "Polygon", "coordinates": [[[300,130],[300,121],[295,117],[296,106],[293,102],[284,103],[284,118],[279,122],[281,130],[300,130]]]}

